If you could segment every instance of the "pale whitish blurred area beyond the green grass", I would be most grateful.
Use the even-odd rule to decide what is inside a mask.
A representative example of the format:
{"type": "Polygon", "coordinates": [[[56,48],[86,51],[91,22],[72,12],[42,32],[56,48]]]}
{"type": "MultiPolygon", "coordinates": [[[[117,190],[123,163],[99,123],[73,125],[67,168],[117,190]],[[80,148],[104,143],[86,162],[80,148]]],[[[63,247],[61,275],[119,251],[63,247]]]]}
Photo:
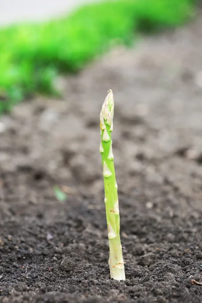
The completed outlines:
{"type": "Polygon", "coordinates": [[[0,25],[63,15],[79,5],[99,0],[0,0],[0,25]]]}

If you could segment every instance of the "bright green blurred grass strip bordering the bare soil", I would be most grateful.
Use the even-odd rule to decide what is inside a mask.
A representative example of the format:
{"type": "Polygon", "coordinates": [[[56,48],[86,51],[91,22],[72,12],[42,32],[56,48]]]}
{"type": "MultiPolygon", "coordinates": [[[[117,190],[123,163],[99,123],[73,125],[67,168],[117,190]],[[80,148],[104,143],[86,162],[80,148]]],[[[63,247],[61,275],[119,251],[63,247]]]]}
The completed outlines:
{"type": "Polygon", "coordinates": [[[56,94],[59,73],[77,72],[139,31],[176,27],[194,12],[191,0],[120,0],[81,7],[67,17],[0,30],[0,112],[35,93],[56,94]]]}

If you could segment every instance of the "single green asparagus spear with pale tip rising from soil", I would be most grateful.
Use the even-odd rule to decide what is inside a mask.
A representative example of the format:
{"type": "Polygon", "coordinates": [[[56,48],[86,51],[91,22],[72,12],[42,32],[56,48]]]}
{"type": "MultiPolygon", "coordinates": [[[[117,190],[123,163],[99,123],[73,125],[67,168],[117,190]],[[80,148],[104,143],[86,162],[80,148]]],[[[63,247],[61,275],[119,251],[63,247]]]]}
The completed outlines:
{"type": "Polygon", "coordinates": [[[119,200],[112,151],[113,116],[114,96],[112,90],[109,90],[100,112],[101,142],[99,151],[102,154],[103,163],[105,206],[110,245],[110,276],[120,281],[125,280],[125,271],[120,239],[119,200]]]}

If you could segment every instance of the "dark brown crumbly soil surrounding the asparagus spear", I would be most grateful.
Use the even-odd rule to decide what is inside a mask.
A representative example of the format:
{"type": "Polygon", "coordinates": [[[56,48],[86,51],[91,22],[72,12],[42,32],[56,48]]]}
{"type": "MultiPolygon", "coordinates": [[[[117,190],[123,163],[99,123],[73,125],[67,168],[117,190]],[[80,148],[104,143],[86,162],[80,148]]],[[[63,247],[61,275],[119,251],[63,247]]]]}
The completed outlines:
{"type": "Polygon", "coordinates": [[[116,49],[3,116],[0,301],[200,302],[202,19],[116,49]],[[99,111],[115,94],[113,146],[124,282],[110,280],[99,111]],[[67,201],[57,200],[62,186],[67,201]]]}

